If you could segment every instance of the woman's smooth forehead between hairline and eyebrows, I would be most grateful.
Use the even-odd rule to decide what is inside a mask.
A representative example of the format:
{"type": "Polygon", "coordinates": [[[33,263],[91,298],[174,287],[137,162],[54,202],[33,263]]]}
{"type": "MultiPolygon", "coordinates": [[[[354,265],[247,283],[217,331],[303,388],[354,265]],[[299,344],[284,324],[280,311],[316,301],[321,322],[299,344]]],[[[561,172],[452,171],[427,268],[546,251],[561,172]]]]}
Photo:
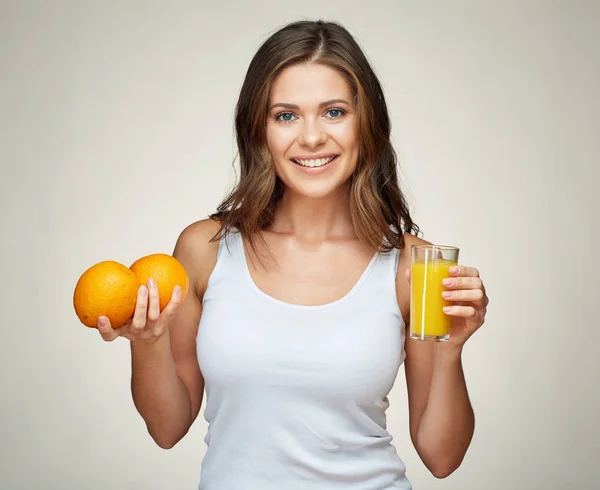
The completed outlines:
{"type": "Polygon", "coordinates": [[[322,64],[293,65],[273,81],[269,103],[315,105],[332,99],[352,102],[350,84],[339,71],[322,64]]]}

